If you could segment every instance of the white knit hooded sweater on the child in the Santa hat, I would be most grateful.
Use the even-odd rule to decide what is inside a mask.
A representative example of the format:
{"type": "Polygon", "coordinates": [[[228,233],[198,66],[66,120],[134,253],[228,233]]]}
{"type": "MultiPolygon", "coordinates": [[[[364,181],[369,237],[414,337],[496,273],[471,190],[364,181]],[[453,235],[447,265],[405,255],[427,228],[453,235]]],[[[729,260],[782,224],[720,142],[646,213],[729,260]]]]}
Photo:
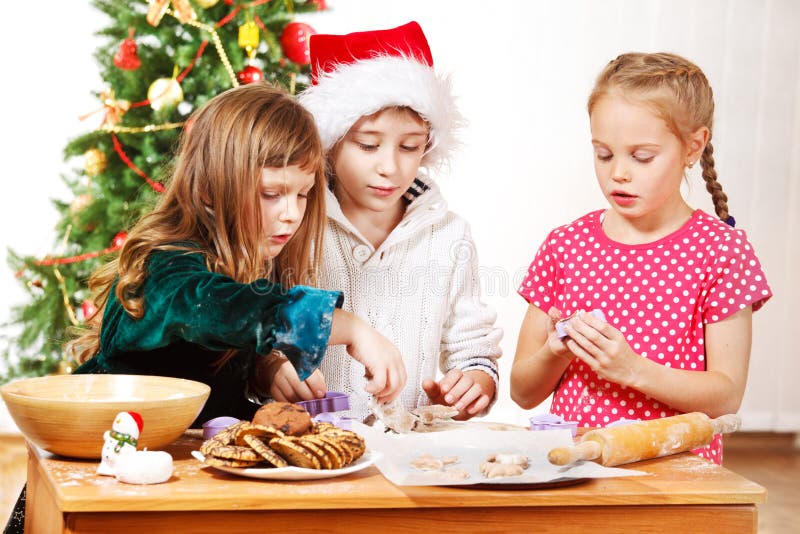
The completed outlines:
{"type": "MultiPolygon", "coordinates": [[[[408,381],[400,395],[407,409],[429,404],[423,380],[437,368],[479,369],[498,382],[502,330],[480,300],[478,258],[469,225],[447,210],[435,183],[406,209],[400,224],[375,250],[327,191],[328,225],[319,286],[344,292],[344,309],[366,320],[403,355],[408,381]]],[[[330,391],[350,396],[350,417],[370,412],[364,367],[341,345],[329,347],[320,366],[330,391]]]]}

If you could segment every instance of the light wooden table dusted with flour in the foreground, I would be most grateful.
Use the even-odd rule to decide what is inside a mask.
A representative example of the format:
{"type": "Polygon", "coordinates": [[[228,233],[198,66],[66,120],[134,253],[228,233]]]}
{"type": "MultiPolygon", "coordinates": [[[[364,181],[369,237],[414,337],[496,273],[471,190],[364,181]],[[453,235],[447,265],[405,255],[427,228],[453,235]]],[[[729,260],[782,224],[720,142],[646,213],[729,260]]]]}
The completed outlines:
{"type": "Polygon", "coordinates": [[[165,484],[95,475],[97,462],[28,444],[27,532],[756,532],[766,490],[689,453],[630,464],[651,476],[549,489],[394,486],[375,467],[340,478],[271,482],[227,475],[168,448],[165,484]],[[427,530],[423,530],[427,529],[427,530]]]}

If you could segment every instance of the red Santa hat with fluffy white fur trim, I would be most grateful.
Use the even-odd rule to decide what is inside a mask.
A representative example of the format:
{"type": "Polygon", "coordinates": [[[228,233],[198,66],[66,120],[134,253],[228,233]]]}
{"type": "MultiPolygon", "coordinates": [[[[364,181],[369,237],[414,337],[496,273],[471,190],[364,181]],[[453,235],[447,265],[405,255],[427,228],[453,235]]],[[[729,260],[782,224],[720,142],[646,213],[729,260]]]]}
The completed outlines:
{"type": "Polygon", "coordinates": [[[312,85],[300,102],[314,115],[325,150],[361,117],[392,106],[409,107],[430,126],[422,164],[445,164],[463,119],[449,78],[433,69],[419,24],[389,30],[311,36],[312,85]]]}

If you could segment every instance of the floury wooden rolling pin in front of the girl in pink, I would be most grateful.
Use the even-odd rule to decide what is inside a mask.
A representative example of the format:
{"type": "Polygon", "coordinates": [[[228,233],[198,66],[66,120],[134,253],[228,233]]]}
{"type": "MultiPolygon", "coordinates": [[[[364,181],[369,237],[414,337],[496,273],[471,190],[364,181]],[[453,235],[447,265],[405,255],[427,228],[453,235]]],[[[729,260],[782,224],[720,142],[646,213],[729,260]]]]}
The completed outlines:
{"type": "Polygon", "coordinates": [[[591,430],[573,447],[558,447],[547,455],[551,464],[568,465],[578,460],[598,460],[614,466],[690,451],[711,443],[715,434],[735,432],[738,415],[711,419],[692,412],[623,426],[591,430]]]}

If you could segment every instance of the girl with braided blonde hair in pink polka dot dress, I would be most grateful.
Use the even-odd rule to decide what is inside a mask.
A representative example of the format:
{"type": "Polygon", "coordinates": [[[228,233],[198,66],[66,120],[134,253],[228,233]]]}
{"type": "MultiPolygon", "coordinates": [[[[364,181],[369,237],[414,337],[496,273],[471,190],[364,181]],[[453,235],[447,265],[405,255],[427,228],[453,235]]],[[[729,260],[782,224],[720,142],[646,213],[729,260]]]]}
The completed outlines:
{"type": "MultiPolygon", "coordinates": [[[[735,413],[752,313],[772,293],[717,181],[708,80],[673,54],[623,54],[598,77],[588,110],[611,207],[556,228],[536,253],[519,288],[530,306],[511,396],[527,409],[553,393],[554,414],[593,427],[735,413]],[[681,195],[698,161],[718,218],[681,195]],[[555,321],[575,313],[559,338],[555,321]]],[[[721,437],[694,452],[721,463],[721,437]]]]}

